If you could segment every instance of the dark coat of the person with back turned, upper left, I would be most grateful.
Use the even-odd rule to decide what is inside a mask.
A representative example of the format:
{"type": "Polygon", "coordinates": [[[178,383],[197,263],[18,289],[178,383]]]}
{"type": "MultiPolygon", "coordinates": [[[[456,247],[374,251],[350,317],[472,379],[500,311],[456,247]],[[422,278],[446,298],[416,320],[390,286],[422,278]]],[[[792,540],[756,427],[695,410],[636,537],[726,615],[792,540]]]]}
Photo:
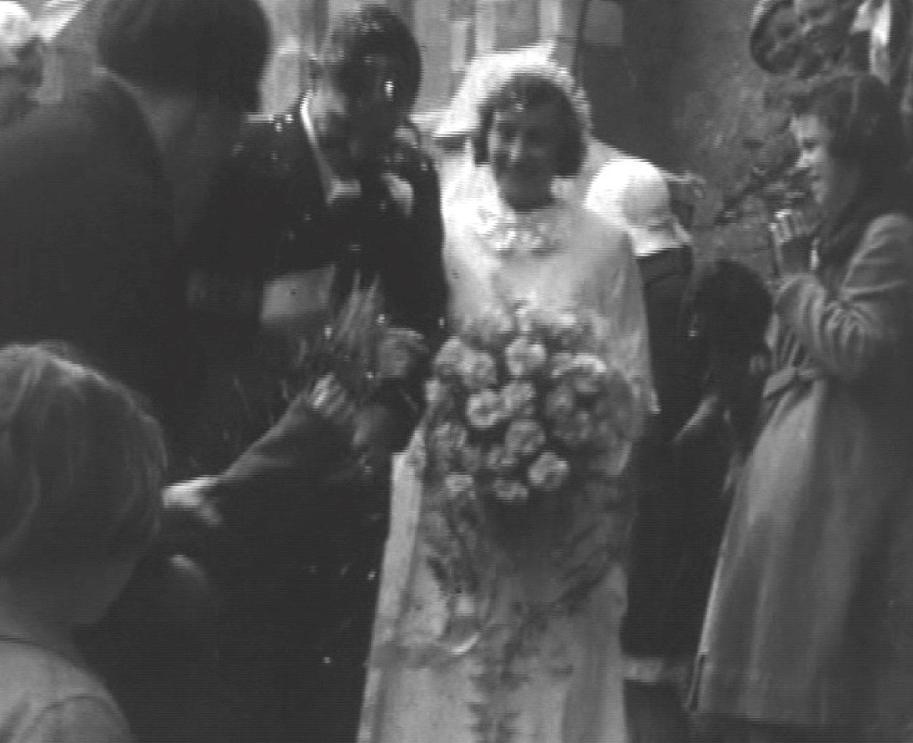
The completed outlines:
{"type": "Polygon", "coordinates": [[[0,133],[0,343],[67,340],[174,429],[188,393],[182,260],[163,163],[115,82],[0,133]]]}

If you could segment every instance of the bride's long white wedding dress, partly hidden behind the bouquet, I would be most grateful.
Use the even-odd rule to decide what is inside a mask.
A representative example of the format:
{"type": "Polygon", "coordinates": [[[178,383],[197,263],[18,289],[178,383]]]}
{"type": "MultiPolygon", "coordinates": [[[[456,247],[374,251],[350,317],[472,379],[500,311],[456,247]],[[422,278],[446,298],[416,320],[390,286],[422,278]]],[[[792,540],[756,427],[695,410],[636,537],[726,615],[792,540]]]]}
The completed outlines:
{"type": "MultiPolygon", "coordinates": [[[[490,189],[449,204],[445,220],[455,319],[515,301],[594,310],[608,320],[614,366],[635,384],[642,409],[652,404],[640,279],[621,233],[575,204],[515,213],[490,189]]],[[[447,643],[446,598],[423,554],[415,454],[401,456],[394,468],[359,743],[624,743],[621,565],[606,572],[582,611],[549,621],[536,651],[522,658],[519,683],[492,688],[471,635],[447,643]]],[[[517,602],[549,600],[560,588],[556,571],[541,560],[504,575],[490,621],[517,602]]]]}

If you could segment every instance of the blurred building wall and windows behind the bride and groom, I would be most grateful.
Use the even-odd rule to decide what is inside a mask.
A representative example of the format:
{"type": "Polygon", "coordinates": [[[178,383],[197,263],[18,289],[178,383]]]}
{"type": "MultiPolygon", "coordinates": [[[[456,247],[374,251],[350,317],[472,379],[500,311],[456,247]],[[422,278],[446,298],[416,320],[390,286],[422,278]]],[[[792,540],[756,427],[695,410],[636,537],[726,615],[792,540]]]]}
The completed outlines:
{"type": "MultiPolygon", "coordinates": [[[[261,0],[274,29],[265,110],[282,110],[307,85],[310,56],[337,13],[358,0],[261,0]]],[[[104,0],[21,0],[33,13],[61,3],[79,12],[52,45],[41,98],[78,87],[94,64],[91,39],[104,0]]],[[[596,136],[672,172],[708,181],[695,215],[710,254],[763,252],[766,218],[750,200],[737,218],[720,204],[757,167],[758,142],[776,129],[765,81],[748,54],[754,0],[388,0],[413,27],[425,78],[416,113],[434,120],[470,62],[488,52],[551,47],[593,104],[596,136]],[[761,240],[761,244],[758,241],[761,240]]],[[[700,239],[703,236],[703,239],[700,239]]]]}

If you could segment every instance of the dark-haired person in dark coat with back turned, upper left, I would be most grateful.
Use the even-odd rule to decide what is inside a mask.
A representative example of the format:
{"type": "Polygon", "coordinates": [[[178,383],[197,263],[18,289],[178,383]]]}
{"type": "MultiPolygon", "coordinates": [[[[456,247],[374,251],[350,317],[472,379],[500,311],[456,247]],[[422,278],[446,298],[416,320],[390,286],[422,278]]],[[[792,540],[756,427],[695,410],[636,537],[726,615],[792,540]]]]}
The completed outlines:
{"type": "MultiPolygon", "coordinates": [[[[194,397],[182,244],[257,109],[267,20],[256,0],[111,0],[98,47],[88,89],[0,131],[0,343],[77,345],[151,401],[179,454],[194,397]]],[[[146,601],[159,573],[144,561],[85,638],[143,738],[180,719],[162,706],[192,678],[164,663],[178,649],[146,601]]]]}

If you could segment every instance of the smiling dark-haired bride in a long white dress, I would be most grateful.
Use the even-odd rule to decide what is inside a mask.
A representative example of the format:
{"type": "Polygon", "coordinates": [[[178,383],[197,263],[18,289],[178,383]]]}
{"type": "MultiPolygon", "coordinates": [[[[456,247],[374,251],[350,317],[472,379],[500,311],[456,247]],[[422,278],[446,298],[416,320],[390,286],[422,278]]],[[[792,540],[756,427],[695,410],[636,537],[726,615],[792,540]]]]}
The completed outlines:
{"type": "MultiPolygon", "coordinates": [[[[451,319],[517,303],[598,313],[613,350],[609,361],[635,390],[642,417],[653,390],[631,249],[552,188],[582,165],[589,136],[582,93],[560,68],[531,64],[477,106],[474,153],[490,177],[445,206],[451,319]]],[[[420,439],[395,473],[360,743],[624,743],[621,565],[605,571],[582,609],[540,627],[510,683],[487,681],[479,635],[532,594],[555,595],[561,578],[542,560],[499,576],[487,624],[476,634],[455,634],[423,558],[420,439]]],[[[603,513],[575,518],[598,522],[603,513]]]]}

